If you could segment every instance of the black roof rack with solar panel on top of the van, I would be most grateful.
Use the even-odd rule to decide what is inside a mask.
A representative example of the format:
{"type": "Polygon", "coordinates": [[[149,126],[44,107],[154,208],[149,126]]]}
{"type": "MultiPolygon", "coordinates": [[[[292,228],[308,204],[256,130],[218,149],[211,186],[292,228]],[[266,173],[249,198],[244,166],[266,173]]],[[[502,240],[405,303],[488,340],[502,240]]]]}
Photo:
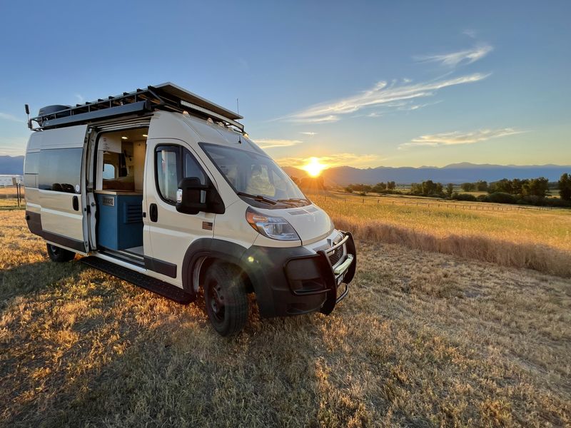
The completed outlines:
{"type": "Polygon", "coordinates": [[[32,131],[61,128],[82,123],[93,123],[109,118],[127,116],[131,114],[149,113],[154,110],[187,112],[200,118],[212,118],[223,122],[226,126],[233,126],[243,133],[244,126],[238,122],[241,119],[238,113],[218,106],[173,83],[161,83],[156,86],[147,86],[146,89],[137,89],[133,92],[123,92],[121,95],[99,98],[91,103],[71,106],[51,106],[42,108],[39,115],[28,120],[28,128],[32,131]],[[37,126],[32,125],[32,121],[37,126]]]}

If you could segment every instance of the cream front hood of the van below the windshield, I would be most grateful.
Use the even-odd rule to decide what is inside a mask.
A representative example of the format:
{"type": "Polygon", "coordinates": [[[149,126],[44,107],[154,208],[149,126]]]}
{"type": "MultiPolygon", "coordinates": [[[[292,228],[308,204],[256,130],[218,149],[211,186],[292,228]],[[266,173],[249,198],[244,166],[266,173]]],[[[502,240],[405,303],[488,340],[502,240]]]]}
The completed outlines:
{"type": "MultiPolygon", "coordinates": [[[[261,211],[260,208],[255,208],[261,211]]],[[[301,239],[301,245],[309,245],[326,238],[333,232],[329,215],[315,204],[304,207],[263,210],[266,215],[279,215],[293,226],[301,239]]]]}

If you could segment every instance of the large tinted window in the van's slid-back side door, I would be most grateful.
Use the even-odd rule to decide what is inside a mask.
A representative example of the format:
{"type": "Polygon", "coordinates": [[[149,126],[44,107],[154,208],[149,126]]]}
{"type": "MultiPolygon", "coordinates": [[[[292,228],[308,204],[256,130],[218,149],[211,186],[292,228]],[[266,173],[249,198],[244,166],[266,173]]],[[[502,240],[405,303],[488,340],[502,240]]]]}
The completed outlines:
{"type": "Polygon", "coordinates": [[[81,193],[83,148],[42,150],[39,159],[39,188],[56,192],[81,193]]]}

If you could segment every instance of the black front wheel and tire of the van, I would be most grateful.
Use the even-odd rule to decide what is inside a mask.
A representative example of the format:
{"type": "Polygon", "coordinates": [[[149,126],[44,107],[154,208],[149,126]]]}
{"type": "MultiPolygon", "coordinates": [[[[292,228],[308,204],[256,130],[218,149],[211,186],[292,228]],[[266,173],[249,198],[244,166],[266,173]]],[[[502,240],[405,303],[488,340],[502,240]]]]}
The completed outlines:
{"type": "Polygon", "coordinates": [[[242,271],[228,263],[213,263],[204,281],[206,312],[221,336],[240,332],[248,320],[248,295],[242,271]]]}

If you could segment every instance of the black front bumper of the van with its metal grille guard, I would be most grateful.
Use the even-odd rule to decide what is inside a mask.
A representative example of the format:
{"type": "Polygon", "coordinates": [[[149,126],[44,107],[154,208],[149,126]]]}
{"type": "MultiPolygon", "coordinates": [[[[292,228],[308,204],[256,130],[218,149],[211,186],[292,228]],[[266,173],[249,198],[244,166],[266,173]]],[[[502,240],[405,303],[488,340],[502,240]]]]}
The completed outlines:
{"type": "Polygon", "coordinates": [[[353,235],[341,235],[340,242],[317,251],[256,246],[246,251],[242,265],[262,317],[333,311],[348,294],[357,265],[353,235]],[[338,295],[340,287],[343,292],[338,295]]]}

